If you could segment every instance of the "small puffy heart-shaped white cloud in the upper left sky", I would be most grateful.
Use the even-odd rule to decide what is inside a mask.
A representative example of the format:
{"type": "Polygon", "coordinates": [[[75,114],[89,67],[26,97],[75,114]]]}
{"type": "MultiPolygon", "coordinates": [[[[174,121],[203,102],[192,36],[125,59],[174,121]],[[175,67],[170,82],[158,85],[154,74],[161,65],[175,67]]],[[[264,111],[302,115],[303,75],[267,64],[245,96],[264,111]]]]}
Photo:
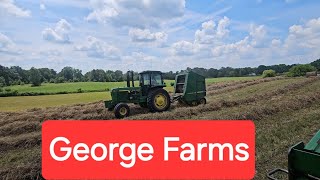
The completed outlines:
{"type": "Polygon", "coordinates": [[[56,43],[69,43],[69,32],[72,26],[65,19],[57,22],[55,28],[46,28],[42,31],[42,38],[56,43]]]}

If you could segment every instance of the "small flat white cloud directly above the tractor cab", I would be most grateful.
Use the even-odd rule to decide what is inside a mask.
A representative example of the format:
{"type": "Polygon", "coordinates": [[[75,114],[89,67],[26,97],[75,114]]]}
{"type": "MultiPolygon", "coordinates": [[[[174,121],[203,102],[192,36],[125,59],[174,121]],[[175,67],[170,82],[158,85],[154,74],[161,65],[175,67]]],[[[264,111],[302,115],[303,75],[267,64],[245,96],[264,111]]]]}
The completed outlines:
{"type": "Polygon", "coordinates": [[[149,29],[132,28],[129,30],[129,36],[133,42],[164,43],[168,35],[164,32],[151,33],[149,29]]]}

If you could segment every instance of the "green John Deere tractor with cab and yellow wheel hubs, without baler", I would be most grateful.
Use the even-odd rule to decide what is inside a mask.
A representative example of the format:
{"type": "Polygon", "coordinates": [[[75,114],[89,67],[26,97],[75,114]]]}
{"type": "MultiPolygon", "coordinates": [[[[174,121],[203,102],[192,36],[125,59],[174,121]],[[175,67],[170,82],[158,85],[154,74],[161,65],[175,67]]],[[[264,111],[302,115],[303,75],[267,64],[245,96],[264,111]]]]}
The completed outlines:
{"type": "Polygon", "coordinates": [[[139,87],[135,87],[133,71],[128,71],[127,87],[112,89],[112,100],[105,101],[105,106],[109,111],[114,110],[117,118],[130,114],[127,103],[139,104],[151,112],[166,111],[171,101],[169,93],[163,89],[165,86],[160,71],[144,71],[139,74],[139,87]]]}

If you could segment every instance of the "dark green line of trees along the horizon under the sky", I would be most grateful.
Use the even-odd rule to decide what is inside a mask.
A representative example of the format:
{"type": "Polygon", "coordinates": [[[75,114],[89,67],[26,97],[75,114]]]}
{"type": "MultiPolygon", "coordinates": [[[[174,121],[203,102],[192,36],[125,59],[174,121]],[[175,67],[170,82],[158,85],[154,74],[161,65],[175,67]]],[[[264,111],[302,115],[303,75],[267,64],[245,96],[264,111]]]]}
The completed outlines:
{"type": "MultiPolygon", "coordinates": [[[[262,75],[265,70],[274,70],[277,74],[289,72],[297,64],[286,65],[278,64],[272,66],[260,65],[258,67],[232,68],[222,67],[220,69],[210,68],[187,68],[207,78],[217,77],[240,77],[262,75]]],[[[320,70],[320,59],[310,63],[318,71],[320,70]]],[[[182,70],[181,70],[182,71],[182,70]]],[[[180,72],[181,72],[180,71],[180,72]]],[[[177,72],[165,72],[165,79],[174,79],[177,72]]],[[[0,87],[10,85],[33,84],[39,86],[41,83],[64,83],[64,82],[120,82],[126,79],[126,74],[120,70],[111,71],[103,69],[93,69],[85,74],[81,70],[64,67],[60,72],[49,68],[34,68],[29,70],[19,66],[5,67],[0,65],[0,87]]],[[[138,79],[138,73],[134,73],[134,79],[138,79]]]]}

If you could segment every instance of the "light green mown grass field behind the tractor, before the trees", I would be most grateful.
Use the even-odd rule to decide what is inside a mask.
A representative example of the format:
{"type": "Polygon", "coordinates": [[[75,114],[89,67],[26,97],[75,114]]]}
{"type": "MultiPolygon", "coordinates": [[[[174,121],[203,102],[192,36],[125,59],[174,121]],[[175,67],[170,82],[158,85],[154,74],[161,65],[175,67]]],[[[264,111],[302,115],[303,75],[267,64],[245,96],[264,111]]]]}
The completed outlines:
{"type": "MultiPolygon", "coordinates": [[[[207,84],[228,81],[253,80],[260,77],[224,77],[224,78],[208,78],[207,84]]],[[[173,92],[170,85],[174,80],[165,80],[168,92],[173,92]]],[[[138,82],[135,82],[138,85],[138,82]]],[[[116,87],[125,87],[126,82],[79,82],[79,83],[61,83],[61,84],[42,84],[40,87],[31,87],[30,85],[10,86],[12,90],[18,92],[74,92],[81,88],[83,91],[102,90],[106,88],[112,89],[116,87]]],[[[73,93],[58,95],[42,95],[42,96],[16,96],[16,97],[0,97],[0,111],[21,111],[31,108],[56,107],[62,105],[89,103],[96,101],[110,100],[110,92],[90,92],[90,93],[73,93]]]]}

